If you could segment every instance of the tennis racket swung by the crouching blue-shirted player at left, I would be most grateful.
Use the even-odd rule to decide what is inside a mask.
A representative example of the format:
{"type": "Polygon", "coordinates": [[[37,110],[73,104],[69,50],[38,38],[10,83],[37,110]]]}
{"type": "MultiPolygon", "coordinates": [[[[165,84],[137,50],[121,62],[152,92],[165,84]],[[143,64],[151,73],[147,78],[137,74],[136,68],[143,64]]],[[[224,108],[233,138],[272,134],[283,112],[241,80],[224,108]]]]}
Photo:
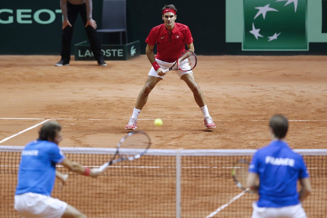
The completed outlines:
{"type": "Polygon", "coordinates": [[[109,165],[122,160],[135,160],[142,157],[151,145],[150,137],[143,131],[129,132],[117,144],[117,150],[112,159],[98,168],[104,171],[109,165]],[[131,150],[133,149],[133,150],[131,150]]]}

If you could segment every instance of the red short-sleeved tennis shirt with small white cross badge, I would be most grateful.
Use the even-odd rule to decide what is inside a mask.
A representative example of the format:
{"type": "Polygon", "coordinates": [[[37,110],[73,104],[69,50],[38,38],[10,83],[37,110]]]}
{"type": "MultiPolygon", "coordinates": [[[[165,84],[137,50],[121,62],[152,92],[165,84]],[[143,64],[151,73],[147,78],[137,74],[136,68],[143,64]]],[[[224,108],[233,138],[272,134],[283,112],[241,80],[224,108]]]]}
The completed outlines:
{"type": "Polygon", "coordinates": [[[175,23],[171,33],[161,24],[151,29],[145,42],[152,46],[157,43],[156,59],[172,63],[185,51],[185,44],[193,42],[193,38],[190,29],[184,24],[175,23]]]}

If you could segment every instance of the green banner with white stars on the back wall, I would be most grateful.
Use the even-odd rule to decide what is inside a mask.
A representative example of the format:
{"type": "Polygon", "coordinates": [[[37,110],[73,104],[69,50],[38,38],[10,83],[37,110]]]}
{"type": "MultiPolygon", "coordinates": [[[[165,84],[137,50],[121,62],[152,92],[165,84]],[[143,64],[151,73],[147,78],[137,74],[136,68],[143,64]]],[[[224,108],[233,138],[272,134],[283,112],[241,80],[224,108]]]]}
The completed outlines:
{"type": "Polygon", "coordinates": [[[308,50],[307,0],[244,0],[242,50],[308,50]]]}

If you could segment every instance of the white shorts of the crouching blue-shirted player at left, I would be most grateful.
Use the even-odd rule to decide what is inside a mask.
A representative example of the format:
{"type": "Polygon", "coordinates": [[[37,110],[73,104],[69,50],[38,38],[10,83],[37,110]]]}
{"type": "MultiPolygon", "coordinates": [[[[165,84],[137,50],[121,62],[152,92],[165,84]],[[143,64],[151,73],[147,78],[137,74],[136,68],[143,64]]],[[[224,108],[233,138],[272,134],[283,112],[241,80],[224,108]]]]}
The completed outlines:
{"type": "Polygon", "coordinates": [[[67,203],[43,194],[15,195],[15,210],[25,218],[61,218],[67,203]]]}

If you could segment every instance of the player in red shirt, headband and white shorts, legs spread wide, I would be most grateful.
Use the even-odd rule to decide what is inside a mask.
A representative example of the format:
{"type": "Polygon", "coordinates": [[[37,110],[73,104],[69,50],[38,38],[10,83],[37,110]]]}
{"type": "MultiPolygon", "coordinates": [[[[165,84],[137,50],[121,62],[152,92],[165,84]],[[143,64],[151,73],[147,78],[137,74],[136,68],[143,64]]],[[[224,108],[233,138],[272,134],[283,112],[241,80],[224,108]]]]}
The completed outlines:
{"type": "MultiPolygon", "coordinates": [[[[188,26],[175,23],[177,18],[177,9],[174,5],[165,5],[162,8],[162,19],[164,24],[155,26],[151,29],[145,42],[146,56],[152,64],[152,68],[147,76],[146,84],[140,92],[133,114],[125,129],[135,130],[137,128],[138,116],[146,104],[147,97],[154,86],[163,79],[165,69],[168,69],[180,56],[181,52],[185,51],[185,44],[187,48],[194,52],[193,38],[188,26]],[[153,47],[157,44],[157,55],[154,56],[153,47]]],[[[192,90],[194,99],[200,107],[203,117],[204,125],[207,129],[215,128],[216,125],[208,112],[207,105],[204,100],[203,93],[198,86],[192,71],[175,71],[182,80],[186,82],[188,87],[192,90]]]]}

